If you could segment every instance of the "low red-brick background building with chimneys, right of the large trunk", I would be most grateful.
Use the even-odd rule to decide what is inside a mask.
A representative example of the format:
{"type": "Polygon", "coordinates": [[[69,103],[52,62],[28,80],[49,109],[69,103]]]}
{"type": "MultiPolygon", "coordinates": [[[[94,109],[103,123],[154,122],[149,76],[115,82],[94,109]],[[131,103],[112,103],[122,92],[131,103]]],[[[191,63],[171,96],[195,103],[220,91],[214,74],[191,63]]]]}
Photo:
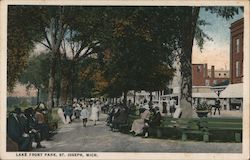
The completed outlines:
{"type": "Polygon", "coordinates": [[[193,64],[192,65],[192,83],[193,86],[214,86],[229,81],[228,70],[215,70],[214,66],[208,69],[207,64],[193,64]]]}

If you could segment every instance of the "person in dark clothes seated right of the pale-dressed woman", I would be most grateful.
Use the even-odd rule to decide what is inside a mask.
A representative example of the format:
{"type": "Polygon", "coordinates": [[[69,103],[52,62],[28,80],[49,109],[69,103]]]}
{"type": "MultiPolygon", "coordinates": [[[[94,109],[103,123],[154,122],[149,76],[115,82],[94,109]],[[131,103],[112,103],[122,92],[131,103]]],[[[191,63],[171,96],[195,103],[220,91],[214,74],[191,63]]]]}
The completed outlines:
{"type": "Polygon", "coordinates": [[[153,108],[153,116],[150,119],[149,123],[145,124],[145,127],[143,128],[143,132],[145,133],[144,137],[148,137],[148,129],[149,127],[157,127],[161,124],[161,113],[159,110],[159,107],[153,108]]]}

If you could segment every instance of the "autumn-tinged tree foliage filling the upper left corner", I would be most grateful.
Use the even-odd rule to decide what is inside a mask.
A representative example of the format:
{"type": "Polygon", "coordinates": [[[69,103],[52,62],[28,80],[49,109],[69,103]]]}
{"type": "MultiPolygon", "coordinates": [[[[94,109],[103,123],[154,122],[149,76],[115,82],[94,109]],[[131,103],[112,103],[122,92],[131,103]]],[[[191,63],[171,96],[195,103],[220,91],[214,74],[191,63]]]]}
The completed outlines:
{"type": "Polygon", "coordinates": [[[38,27],[29,23],[37,19],[24,6],[9,6],[7,30],[7,88],[11,92],[20,74],[27,66],[35,41],[41,39],[38,27]],[[27,18],[29,17],[29,18],[27,18]],[[20,43],[21,42],[21,43],[20,43]]]}

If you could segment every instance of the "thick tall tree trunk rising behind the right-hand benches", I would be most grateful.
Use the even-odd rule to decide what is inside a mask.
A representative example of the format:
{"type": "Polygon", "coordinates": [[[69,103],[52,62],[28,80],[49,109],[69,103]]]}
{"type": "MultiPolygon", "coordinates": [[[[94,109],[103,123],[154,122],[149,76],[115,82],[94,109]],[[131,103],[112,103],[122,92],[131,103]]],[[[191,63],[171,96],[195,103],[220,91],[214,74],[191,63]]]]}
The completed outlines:
{"type": "Polygon", "coordinates": [[[192,108],[192,49],[199,10],[199,7],[188,7],[186,9],[185,27],[183,27],[183,35],[185,36],[183,37],[182,54],[180,57],[180,107],[182,108],[182,118],[192,118],[194,116],[194,110],[192,108]]]}

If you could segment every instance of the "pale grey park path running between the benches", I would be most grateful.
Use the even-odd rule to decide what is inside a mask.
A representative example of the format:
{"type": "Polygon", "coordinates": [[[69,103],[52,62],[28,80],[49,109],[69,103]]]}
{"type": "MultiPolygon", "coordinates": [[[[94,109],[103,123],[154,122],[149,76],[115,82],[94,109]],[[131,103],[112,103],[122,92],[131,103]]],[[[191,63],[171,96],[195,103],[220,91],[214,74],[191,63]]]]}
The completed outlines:
{"type": "Polygon", "coordinates": [[[133,137],[110,131],[101,121],[93,126],[88,122],[86,128],[81,121],[61,126],[53,141],[43,141],[46,148],[33,149],[37,152],[196,152],[196,153],[240,153],[241,143],[205,143],[133,137]]]}

